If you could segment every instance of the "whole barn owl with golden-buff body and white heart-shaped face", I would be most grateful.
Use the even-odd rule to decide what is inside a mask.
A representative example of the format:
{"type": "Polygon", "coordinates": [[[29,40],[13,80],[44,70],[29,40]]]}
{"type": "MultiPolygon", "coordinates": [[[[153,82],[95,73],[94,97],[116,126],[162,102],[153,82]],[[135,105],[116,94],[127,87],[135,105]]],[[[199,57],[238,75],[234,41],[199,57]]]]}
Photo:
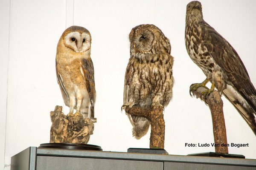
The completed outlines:
{"type": "Polygon", "coordinates": [[[93,62],[90,58],[91,35],[80,26],[67,28],[58,42],[56,73],[68,115],[76,113],[94,118],[96,91],[93,62]]]}

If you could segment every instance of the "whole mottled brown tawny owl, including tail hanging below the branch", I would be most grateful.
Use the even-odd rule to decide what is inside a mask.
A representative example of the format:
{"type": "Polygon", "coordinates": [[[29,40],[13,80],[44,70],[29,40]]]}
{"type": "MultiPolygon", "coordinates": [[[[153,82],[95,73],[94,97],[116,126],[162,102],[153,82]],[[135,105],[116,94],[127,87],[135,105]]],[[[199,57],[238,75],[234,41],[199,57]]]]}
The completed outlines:
{"type": "MultiPolygon", "coordinates": [[[[129,34],[130,59],[125,73],[124,106],[142,108],[165,107],[172,98],[171,45],[154,25],[143,24],[129,34]]],[[[128,114],[133,136],[140,139],[149,127],[149,120],[128,114]]]]}

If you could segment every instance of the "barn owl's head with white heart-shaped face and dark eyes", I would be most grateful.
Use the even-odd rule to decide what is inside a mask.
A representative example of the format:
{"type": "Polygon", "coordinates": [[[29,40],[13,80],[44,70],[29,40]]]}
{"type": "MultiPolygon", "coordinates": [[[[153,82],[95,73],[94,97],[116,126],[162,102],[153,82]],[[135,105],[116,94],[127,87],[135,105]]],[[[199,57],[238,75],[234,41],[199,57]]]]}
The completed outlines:
{"type": "Polygon", "coordinates": [[[71,26],[63,32],[61,38],[64,45],[75,52],[81,53],[90,49],[91,35],[84,27],[71,26]]]}

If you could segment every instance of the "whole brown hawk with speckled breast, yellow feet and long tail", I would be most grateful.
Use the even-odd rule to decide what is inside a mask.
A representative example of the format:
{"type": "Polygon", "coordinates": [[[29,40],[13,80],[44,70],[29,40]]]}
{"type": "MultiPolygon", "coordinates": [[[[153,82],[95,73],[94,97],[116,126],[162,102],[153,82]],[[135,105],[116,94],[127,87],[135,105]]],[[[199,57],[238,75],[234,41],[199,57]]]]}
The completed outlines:
{"type": "Polygon", "coordinates": [[[256,134],[256,90],[236,50],[203,19],[202,6],[192,1],[186,6],[185,43],[187,52],[207,78],[191,85],[190,91],[200,86],[216,87],[235,106],[256,134]]]}

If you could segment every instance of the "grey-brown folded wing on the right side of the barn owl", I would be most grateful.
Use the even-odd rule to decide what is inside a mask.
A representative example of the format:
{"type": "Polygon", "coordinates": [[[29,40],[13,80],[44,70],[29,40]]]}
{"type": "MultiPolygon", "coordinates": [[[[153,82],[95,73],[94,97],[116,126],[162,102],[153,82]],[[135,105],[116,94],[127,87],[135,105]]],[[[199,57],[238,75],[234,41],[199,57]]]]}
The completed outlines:
{"type": "Polygon", "coordinates": [[[88,59],[83,58],[80,61],[80,65],[81,65],[80,71],[84,78],[84,83],[90,97],[91,116],[94,117],[94,104],[96,101],[96,90],[95,90],[95,83],[94,83],[93,62],[90,58],[88,59]]]}

